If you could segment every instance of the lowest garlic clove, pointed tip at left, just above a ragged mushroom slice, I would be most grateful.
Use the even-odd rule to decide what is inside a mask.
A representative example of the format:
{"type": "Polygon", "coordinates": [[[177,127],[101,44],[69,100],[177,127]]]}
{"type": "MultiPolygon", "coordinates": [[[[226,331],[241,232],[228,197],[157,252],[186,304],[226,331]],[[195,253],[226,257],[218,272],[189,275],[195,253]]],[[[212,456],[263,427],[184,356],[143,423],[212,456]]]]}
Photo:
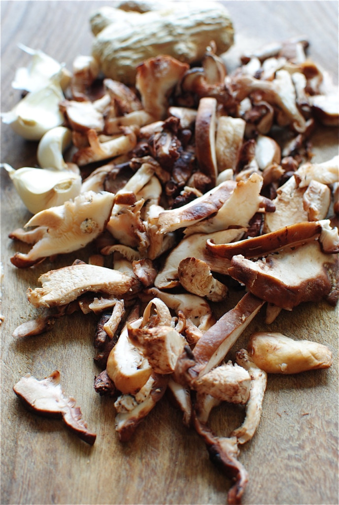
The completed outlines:
{"type": "Polygon", "coordinates": [[[36,214],[63,205],[80,194],[81,176],[71,171],[23,167],[14,170],[4,163],[27,209],[36,214]]]}

